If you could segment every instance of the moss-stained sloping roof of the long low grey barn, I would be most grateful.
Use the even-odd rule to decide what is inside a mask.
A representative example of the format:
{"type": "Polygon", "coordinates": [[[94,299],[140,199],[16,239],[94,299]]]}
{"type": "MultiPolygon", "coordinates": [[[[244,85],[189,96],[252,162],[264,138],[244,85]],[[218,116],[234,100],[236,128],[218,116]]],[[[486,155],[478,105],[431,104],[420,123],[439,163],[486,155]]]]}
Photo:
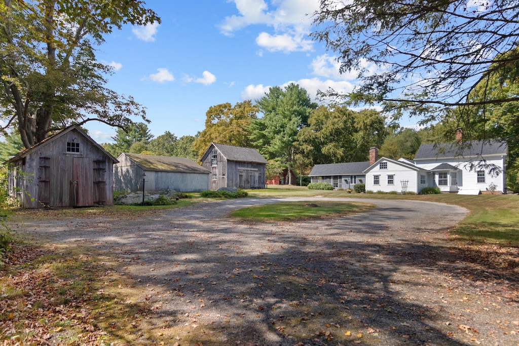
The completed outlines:
{"type": "Polygon", "coordinates": [[[210,171],[187,157],[171,157],[158,155],[144,155],[122,153],[145,171],[156,172],[182,172],[182,173],[206,173],[210,171]]]}

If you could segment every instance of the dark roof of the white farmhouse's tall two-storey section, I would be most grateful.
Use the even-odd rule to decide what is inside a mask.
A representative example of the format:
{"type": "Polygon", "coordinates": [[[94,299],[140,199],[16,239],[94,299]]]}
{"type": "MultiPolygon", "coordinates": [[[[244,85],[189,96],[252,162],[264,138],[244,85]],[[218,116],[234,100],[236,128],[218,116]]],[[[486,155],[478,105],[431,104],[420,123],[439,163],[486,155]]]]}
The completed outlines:
{"type": "Polygon", "coordinates": [[[508,155],[508,144],[500,140],[468,141],[462,144],[422,144],[416,151],[415,160],[508,155]]]}

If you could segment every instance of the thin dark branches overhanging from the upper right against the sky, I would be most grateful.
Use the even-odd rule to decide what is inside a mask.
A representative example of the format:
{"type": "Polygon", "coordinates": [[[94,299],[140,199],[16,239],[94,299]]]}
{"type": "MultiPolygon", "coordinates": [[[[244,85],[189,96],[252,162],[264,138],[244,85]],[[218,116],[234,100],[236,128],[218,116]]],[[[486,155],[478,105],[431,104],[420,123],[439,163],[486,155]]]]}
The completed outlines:
{"type": "Polygon", "coordinates": [[[329,96],[380,103],[395,116],[407,112],[424,121],[444,107],[519,101],[505,94],[470,98],[480,81],[502,82],[499,76],[519,64],[515,0],[320,3],[312,36],[338,53],[341,72],[357,71],[360,79],[351,93],[329,96]]]}

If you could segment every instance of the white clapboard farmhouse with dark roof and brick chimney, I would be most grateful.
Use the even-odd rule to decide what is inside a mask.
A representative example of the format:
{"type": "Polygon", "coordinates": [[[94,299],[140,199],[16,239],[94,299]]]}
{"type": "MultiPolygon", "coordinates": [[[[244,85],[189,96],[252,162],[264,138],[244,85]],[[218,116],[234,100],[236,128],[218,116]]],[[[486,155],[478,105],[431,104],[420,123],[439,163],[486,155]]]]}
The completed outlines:
{"type": "Polygon", "coordinates": [[[424,187],[438,187],[442,192],[479,193],[490,185],[506,190],[506,142],[422,144],[414,160],[377,156],[377,149],[371,148],[370,157],[377,159],[363,172],[366,190],[419,193],[424,187]]]}

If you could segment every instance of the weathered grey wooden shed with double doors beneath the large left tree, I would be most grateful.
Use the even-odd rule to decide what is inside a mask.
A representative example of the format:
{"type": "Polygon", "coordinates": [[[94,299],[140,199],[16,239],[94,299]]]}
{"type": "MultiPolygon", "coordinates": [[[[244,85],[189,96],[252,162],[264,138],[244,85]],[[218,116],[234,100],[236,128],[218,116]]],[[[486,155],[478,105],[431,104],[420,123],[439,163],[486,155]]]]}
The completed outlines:
{"type": "Polygon", "coordinates": [[[4,162],[9,195],[25,208],[112,205],[117,160],[77,126],[4,162]]]}

